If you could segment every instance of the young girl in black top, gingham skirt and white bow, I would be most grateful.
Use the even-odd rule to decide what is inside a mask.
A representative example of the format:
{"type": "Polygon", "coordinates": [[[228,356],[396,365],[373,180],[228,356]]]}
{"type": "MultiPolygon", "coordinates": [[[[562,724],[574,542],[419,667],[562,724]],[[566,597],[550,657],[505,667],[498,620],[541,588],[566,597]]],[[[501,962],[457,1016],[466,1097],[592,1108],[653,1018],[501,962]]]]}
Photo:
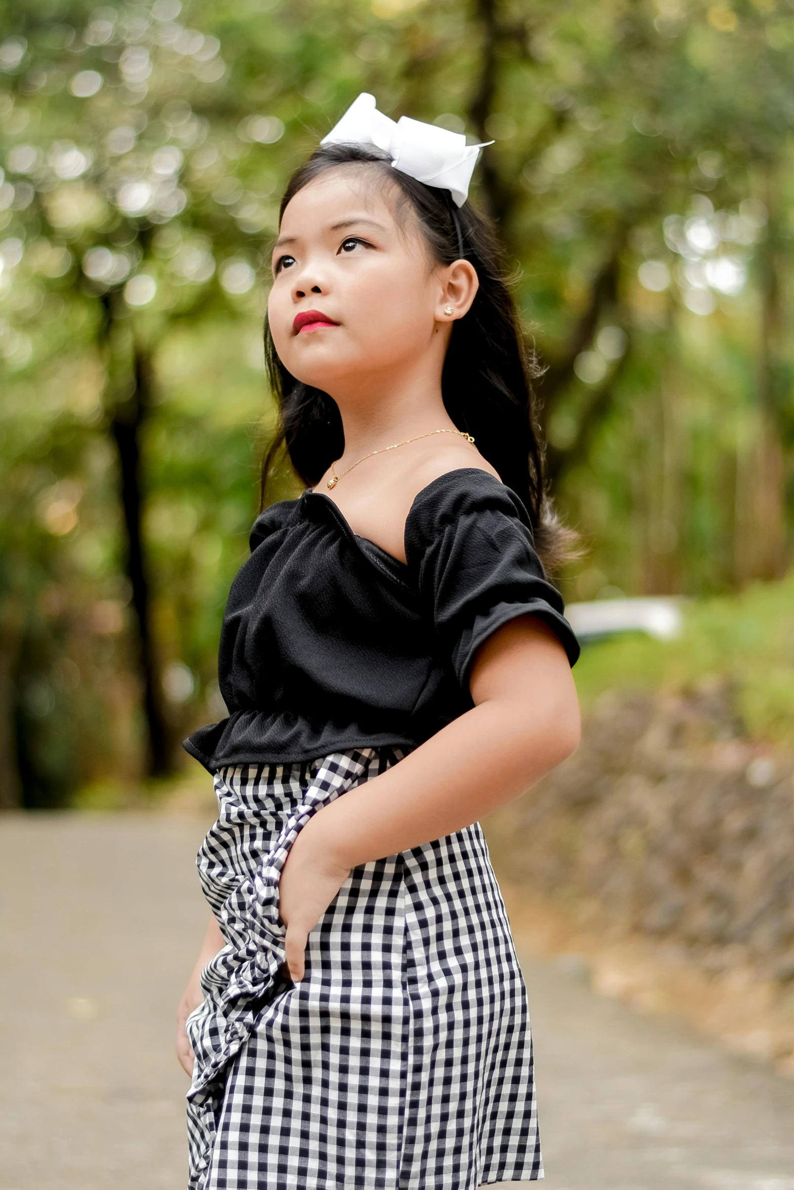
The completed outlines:
{"type": "MultiPolygon", "coordinates": [[[[526,989],[479,819],[579,741],[480,146],[362,95],[281,203],[265,342],[310,486],[231,588],[212,908],[180,1008],[190,1190],[543,1177],[526,989]],[[537,552],[536,552],[537,551],[537,552]]],[[[264,503],[264,500],[263,500],[264,503]]]]}

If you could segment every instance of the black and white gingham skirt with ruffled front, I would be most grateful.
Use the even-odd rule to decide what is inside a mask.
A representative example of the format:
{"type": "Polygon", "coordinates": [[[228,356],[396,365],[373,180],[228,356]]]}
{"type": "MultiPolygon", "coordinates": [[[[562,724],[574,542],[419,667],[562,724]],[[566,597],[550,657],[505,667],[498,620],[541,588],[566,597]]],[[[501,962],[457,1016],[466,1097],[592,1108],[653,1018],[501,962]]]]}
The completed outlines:
{"type": "Polygon", "coordinates": [[[189,1190],[475,1190],[543,1177],[526,989],[479,822],[354,868],[281,970],[279,878],[402,753],[237,765],[199,850],[226,945],[187,1021],[189,1190]]]}

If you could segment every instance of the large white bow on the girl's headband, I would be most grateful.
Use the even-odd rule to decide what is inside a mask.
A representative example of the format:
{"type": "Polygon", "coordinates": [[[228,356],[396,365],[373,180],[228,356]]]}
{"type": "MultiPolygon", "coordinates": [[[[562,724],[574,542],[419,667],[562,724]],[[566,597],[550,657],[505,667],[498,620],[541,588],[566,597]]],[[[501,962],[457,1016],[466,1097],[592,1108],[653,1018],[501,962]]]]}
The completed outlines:
{"type": "Polygon", "coordinates": [[[469,182],[477,155],[493,140],[467,145],[462,132],[450,132],[436,124],[423,124],[401,115],[390,120],[377,111],[374,95],[363,90],[338,124],[320,140],[327,144],[375,145],[392,157],[392,165],[426,186],[448,189],[462,207],[469,194],[469,182]]]}

